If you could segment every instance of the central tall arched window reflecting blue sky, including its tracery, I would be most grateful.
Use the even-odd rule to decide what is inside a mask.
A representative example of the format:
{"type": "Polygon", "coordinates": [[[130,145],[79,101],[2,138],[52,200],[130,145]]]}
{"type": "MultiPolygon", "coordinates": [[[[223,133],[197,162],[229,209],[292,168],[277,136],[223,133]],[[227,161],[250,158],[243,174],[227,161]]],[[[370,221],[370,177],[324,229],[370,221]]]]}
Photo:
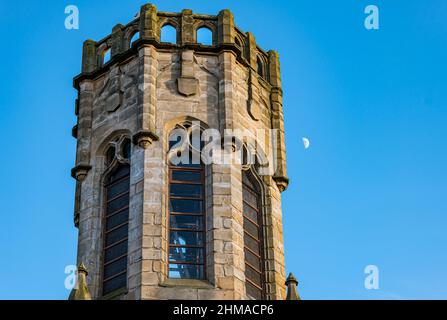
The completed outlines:
{"type": "Polygon", "coordinates": [[[204,166],[189,134],[178,133],[189,129],[170,137],[169,278],[205,279],[204,166]]]}

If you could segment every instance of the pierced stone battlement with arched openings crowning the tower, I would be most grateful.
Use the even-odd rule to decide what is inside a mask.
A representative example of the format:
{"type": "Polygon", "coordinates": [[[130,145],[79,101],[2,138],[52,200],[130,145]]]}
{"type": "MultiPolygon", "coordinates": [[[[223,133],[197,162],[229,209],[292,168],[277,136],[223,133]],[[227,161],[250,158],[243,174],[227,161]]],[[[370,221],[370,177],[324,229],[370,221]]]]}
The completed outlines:
{"type": "Polygon", "coordinates": [[[99,41],[84,42],[82,72],[74,79],[75,88],[79,88],[83,79],[100,75],[111,65],[137,54],[138,49],[145,44],[151,44],[157,49],[192,49],[203,52],[231,50],[240,63],[256,70],[267,83],[280,87],[277,78],[270,74],[270,61],[277,59],[277,53],[265,52],[256,44],[253,34],[244,33],[236,27],[231,11],[222,10],[217,16],[194,14],[189,9],[184,9],[181,13],[170,13],[158,12],[153,4],[145,4],[133,21],[126,25],[117,24],[110,35],[99,41]],[[176,43],[161,42],[161,30],[167,25],[176,29],[176,43]],[[197,43],[197,31],[201,28],[212,32],[212,45],[197,43]],[[132,42],[136,34],[139,38],[132,42]],[[104,62],[104,56],[109,50],[110,60],[104,62]]]}

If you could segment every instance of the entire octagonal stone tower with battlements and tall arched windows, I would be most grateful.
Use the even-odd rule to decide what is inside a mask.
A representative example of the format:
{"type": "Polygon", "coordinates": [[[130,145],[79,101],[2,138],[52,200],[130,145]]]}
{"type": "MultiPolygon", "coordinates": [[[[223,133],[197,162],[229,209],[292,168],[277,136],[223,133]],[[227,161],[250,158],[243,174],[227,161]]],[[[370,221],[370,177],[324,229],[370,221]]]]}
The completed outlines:
{"type": "Polygon", "coordinates": [[[146,4],[127,25],[84,42],[74,87],[85,291],[93,299],[285,299],[278,54],[237,28],[229,10],[146,4]],[[175,43],[163,41],[166,26],[175,43]],[[203,28],[211,43],[198,43],[203,28]],[[190,138],[197,132],[220,135],[222,154],[242,158],[174,163],[182,152],[200,154],[205,143],[190,138]]]}

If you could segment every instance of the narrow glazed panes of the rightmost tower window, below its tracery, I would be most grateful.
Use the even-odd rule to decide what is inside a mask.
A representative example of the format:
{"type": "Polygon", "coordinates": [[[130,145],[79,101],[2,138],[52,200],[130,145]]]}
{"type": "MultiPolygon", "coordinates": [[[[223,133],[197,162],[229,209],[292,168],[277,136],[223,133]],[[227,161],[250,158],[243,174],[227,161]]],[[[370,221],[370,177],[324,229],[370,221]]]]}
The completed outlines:
{"type": "Polygon", "coordinates": [[[264,298],[264,258],[261,190],[250,170],[242,172],[244,217],[245,286],[253,299],[264,298]]]}

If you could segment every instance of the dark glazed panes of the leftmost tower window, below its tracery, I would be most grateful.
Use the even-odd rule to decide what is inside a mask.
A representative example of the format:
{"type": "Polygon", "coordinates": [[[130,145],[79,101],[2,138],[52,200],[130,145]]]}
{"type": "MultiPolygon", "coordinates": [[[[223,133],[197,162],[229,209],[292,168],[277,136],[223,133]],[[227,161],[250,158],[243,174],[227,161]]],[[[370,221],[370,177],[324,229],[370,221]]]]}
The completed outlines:
{"type": "Polygon", "coordinates": [[[126,286],[129,174],[129,165],[120,165],[106,179],[103,295],[126,286]]]}

